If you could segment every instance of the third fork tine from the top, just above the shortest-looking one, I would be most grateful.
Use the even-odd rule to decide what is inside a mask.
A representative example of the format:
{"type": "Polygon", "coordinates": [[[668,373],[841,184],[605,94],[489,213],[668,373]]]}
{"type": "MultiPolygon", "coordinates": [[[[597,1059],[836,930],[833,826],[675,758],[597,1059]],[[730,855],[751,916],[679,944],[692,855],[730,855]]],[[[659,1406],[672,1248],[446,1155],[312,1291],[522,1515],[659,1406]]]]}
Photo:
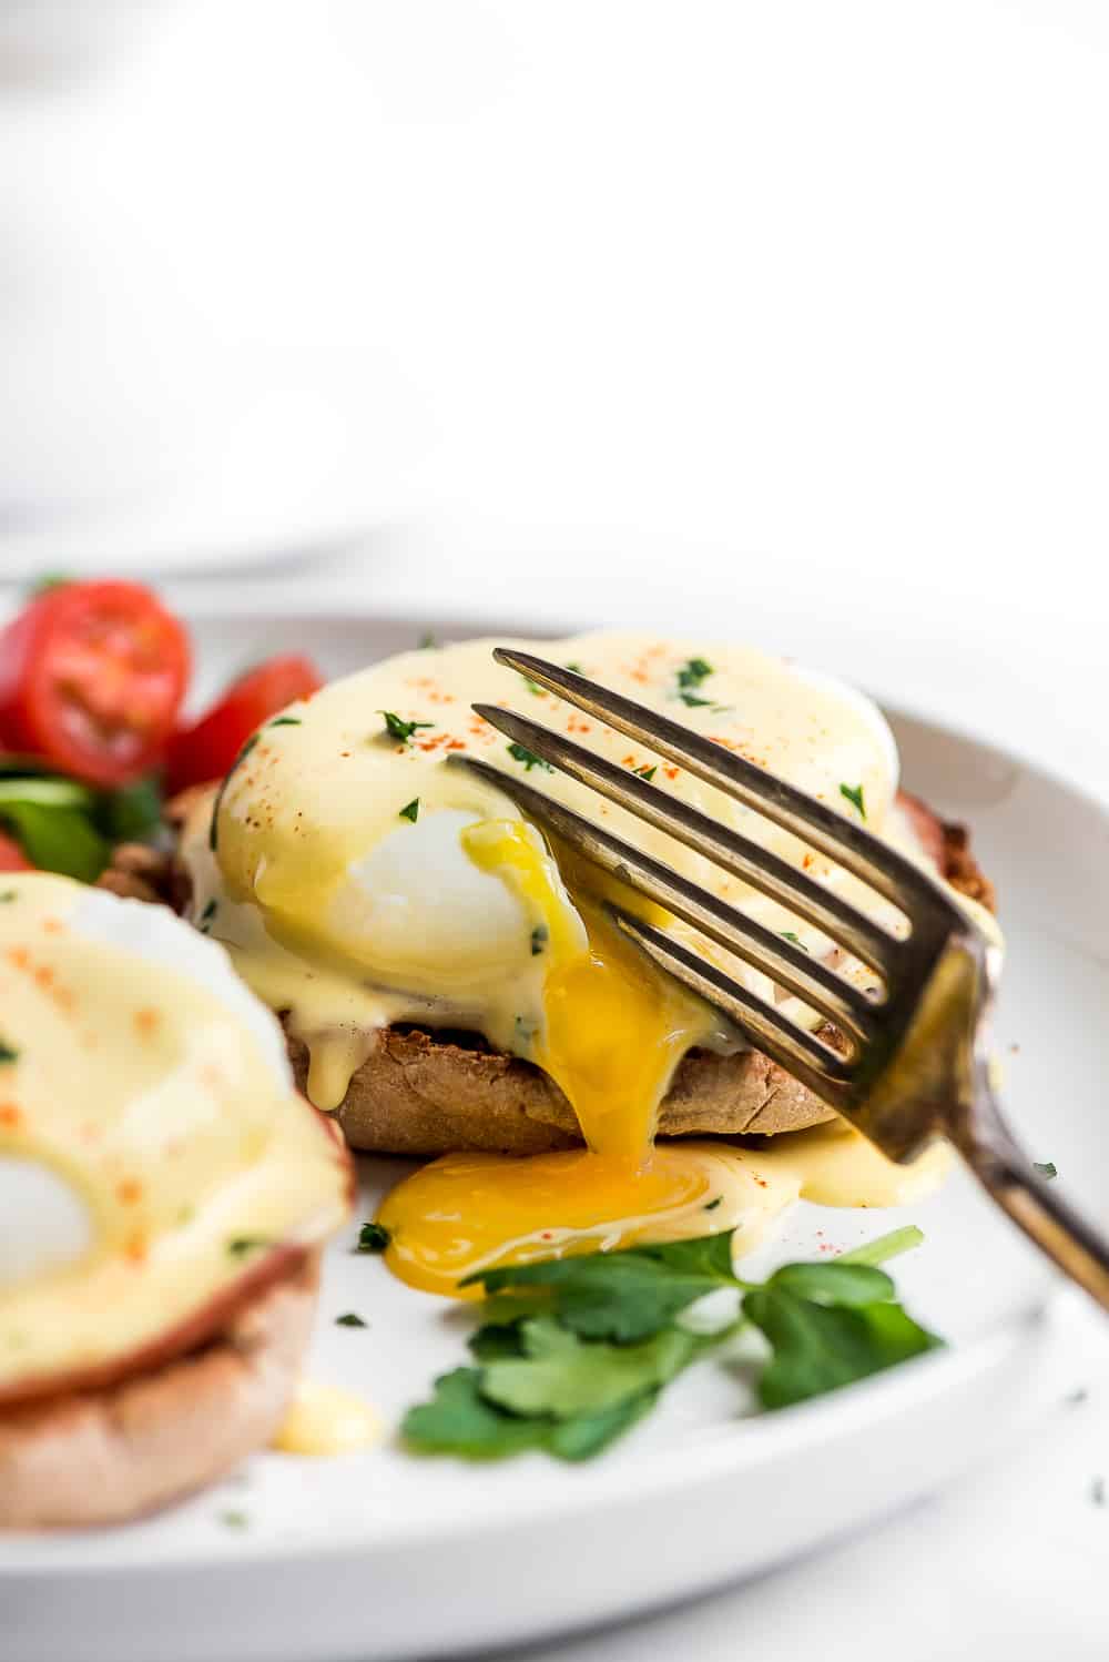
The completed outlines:
{"type": "Polygon", "coordinates": [[[647,899],[664,906],[666,911],[684,917],[694,929],[719,941],[729,952],[735,952],[737,957],[764,971],[779,986],[820,1010],[828,1020],[845,1027],[860,1042],[872,1037],[875,1002],[818,959],[809,957],[804,947],[790,946],[782,936],[752,917],[745,917],[727,901],[697,888],[671,866],[633,848],[631,843],[613,836],[611,831],[591,824],[571,808],[553,801],[523,779],[515,779],[500,768],[471,756],[450,760],[455,766],[468,768],[508,791],[533,819],[550,826],[578,853],[631,884],[647,899]]]}

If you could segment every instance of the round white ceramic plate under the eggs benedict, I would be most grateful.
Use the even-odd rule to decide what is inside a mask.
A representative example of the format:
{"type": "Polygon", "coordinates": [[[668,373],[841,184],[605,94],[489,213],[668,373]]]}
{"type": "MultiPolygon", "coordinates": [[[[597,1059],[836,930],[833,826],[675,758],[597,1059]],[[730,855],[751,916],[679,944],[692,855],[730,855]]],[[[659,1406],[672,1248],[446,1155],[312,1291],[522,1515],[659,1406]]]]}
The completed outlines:
{"type": "MultiPolygon", "coordinates": [[[[198,623],[211,678],[251,633],[294,640],[345,671],[425,620],[219,617],[198,623]]],[[[442,635],[460,630],[443,627],[442,635]]],[[[465,633],[475,633],[470,627],[465,633]]],[[[1013,1120],[1091,1208],[1109,1203],[1099,1050],[1109,964],[1109,816],[971,738],[895,716],[906,783],[975,826],[996,878],[1009,967],[998,1014],[1013,1120]]],[[[359,1217],[407,1167],[364,1165],[359,1217]]],[[[232,1483],[149,1522],[7,1539],[7,1662],[400,1662],[471,1650],[659,1605],[767,1569],[941,1486],[1049,1388],[1051,1278],[955,1173],[903,1212],[799,1205],[762,1258],[852,1246],[903,1222],[926,1245],[895,1266],[910,1308],[950,1350],[837,1396],[749,1416],[706,1365],[594,1464],[540,1456],[493,1468],[415,1459],[387,1441],[335,1461],[261,1454],[232,1483]],[[234,1527],[227,1514],[241,1514],[234,1527]]],[[[352,1253],[330,1253],[315,1376],[395,1424],[463,1360],[467,1320],[352,1253]],[[359,1311],[369,1328],[335,1326],[359,1311]]],[[[1054,1388],[1054,1384],[1051,1384],[1054,1388]]]]}

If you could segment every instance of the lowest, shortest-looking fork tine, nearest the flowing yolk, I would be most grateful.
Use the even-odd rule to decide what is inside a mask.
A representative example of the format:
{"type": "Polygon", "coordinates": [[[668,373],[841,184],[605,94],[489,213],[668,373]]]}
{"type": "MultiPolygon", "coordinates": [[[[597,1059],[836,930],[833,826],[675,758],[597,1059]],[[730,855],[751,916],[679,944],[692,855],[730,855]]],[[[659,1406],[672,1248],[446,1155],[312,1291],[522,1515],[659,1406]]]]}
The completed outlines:
{"type": "Polygon", "coordinates": [[[674,976],[706,1004],[727,1017],[757,1050],[769,1055],[787,1074],[840,1112],[847,1107],[852,1064],[817,1034],[797,1027],[757,994],[740,987],[730,976],[689,952],[662,929],[634,917],[619,906],[606,911],[659,969],[674,976]]]}

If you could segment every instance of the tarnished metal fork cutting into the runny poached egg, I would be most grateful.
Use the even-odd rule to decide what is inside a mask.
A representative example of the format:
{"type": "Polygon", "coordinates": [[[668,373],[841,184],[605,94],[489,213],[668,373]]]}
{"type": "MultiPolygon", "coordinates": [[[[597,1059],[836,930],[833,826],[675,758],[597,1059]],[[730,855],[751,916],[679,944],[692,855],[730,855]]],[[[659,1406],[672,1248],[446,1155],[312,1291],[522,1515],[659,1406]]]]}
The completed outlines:
{"type": "Polygon", "coordinates": [[[616,924],[647,957],[727,1017],[744,1039],[800,1079],[888,1158],[910,1162],[935,1135],[950,1138],[996,1203],[1109,1310],[1109,1242],[1039,1177],[1001,1117],[986,1047],[999,952],[948,889],[865,826],[677,721],[530,653],[498,648],[493,656],[772,819],[906,916],[908,936],[898,939],[804,871],[628,768],[511,710],[473,706],[541,761],[815,924],[868,964],[882,982],[877,991],[857,987],[809,957],[804,947],[525,779],[471,756],[452,758],[506,791],[563,843],[825,1015],[842,1035],[843,1049],[809,1032],[664,929],[608,904],[616,924]]]}

